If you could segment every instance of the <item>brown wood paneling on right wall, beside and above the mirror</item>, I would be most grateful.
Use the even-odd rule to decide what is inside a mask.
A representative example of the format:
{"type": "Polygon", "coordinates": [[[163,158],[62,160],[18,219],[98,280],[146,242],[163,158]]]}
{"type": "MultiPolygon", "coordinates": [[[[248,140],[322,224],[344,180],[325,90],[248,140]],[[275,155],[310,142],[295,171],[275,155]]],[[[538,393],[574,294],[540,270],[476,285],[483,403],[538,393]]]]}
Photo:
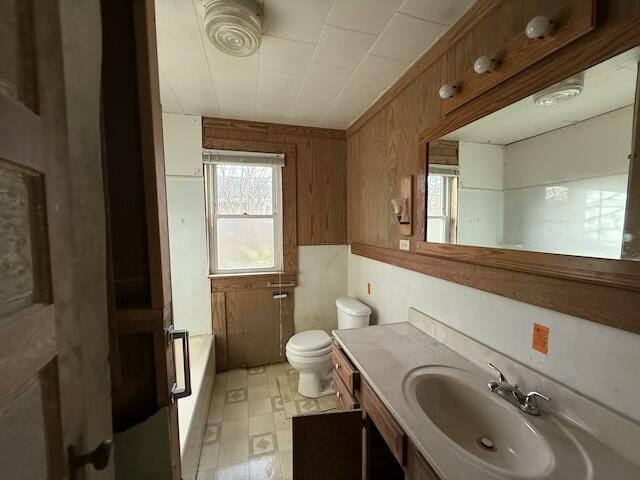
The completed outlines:
{"type": "MultiPolygon", "coordinates": [[[[440,114],[438,88],[442,83],[461,78],[480,55],[498,51],[519,33],[528,19],[541,11],[557,8],[566,1],[479,0],[443,37],[426,52],[347,131],[347,225],[348,243],[398,248],[401,238],[392,224],[391,198],[398,196],[400,179],[414,175],[414,191],[424,181],[419,154],[419,138],[425,131],[446,120],[440,114]],[[488,12],[491,12],[488,14],[488,12]]],[[[565,58],[575,62],[597,63],[617,52],[615,32],[635,19],[640,21],[640,2],[598,0],[596,29],[539,62],[565,58]],[[601,45],[603,37],[612,37],[601,45]],[[607,51],[609,49],[609,51],[607,51]]],[[[541,67],[542,68],[542,67],[541,67]]],[[[534,75],[531,69],[505,82],[522,82],[534,75]]],[[[559,79],[558,79],[559,80],[559,79]]],[[[495,93],[498,87],[488,93],[495,93]]],[[[486,95],[485,95],[486,97],[486,95]]],[[[482,96],[478,102],[481,102],[482,96]]],[[[473,109],[472,100],[461,109],[473,109]]],[[[414,218],[417,214],[414,206],[414,218]]],[[[412,236],[412,247],[420,231],[412,236]]]]}

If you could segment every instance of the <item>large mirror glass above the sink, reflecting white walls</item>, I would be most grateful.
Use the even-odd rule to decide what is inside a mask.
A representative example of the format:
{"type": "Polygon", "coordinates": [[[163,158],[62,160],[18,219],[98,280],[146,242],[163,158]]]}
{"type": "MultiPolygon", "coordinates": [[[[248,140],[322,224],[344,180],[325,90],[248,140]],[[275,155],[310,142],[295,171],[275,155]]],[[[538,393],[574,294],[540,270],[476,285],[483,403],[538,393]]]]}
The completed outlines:
{"type": "Polygon", "coordinates": [[[427,241],[626,258],[639,61],[640,47],[431,141],[427,241]]]}

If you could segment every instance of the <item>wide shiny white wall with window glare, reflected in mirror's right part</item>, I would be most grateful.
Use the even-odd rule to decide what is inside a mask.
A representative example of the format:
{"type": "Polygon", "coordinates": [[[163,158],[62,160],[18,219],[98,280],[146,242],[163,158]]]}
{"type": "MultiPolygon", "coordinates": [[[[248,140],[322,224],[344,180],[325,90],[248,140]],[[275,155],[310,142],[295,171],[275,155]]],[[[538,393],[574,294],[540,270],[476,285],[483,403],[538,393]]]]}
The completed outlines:
{"type": "Polygon", "coordinates": [[[620,258],[633,107],[505,149],[503,246],[620,258]]]}

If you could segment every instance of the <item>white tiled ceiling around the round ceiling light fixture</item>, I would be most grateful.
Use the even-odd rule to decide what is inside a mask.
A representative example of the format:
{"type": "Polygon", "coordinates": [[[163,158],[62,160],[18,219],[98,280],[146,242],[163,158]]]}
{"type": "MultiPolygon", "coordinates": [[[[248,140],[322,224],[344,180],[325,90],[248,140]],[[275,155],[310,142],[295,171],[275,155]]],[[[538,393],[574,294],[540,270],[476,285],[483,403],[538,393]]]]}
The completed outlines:
{"type": "Polygon", "coordinates": [[[202,0],[156,0],[165,112],[347,128],[472,0],[263,0],[257,54],[218,51],[202,0]]]}

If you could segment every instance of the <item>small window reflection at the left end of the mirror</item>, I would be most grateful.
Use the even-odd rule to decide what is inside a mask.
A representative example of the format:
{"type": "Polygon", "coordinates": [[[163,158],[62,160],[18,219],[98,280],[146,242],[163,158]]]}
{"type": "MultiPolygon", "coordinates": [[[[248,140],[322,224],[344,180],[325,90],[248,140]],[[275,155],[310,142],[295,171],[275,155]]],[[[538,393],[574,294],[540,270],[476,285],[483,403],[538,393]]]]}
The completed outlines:
{"type": "Polygon", "coordinates": [[[456,243],[458,169],[429,165],[427,177],[427,241],[456,243]]]}

